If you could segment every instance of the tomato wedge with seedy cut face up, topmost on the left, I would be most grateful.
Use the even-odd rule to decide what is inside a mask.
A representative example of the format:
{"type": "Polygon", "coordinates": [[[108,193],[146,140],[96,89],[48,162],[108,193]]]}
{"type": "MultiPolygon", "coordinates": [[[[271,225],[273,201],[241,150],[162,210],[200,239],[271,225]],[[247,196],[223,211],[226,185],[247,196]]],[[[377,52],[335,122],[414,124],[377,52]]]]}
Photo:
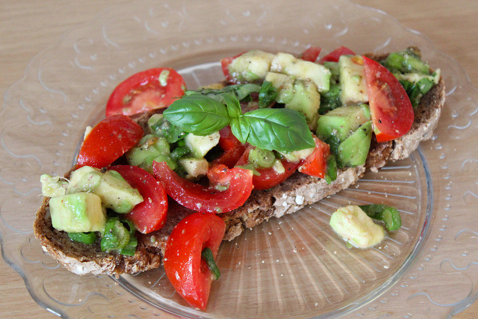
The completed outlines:
{"type": "Polygon", "coordinates": [[[183,77],[171,68],[136,73],[115,88],[106,104],[106,116],[165,108],[181,97],[185,89],[183,77]]]}

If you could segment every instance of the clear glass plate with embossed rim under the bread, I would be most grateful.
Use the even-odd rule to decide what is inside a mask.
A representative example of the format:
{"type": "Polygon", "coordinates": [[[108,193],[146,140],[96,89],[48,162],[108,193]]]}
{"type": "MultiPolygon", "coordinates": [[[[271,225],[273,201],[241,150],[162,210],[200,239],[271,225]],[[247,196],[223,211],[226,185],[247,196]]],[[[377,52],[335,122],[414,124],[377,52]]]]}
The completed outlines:
{"type": "MultiPolygon", "coordinates": [[[[453,59],[382,11],[334,1],[140,1],[114,7],[37,55],[6,93],[0,131],[4,260],[42,307],[64,318],[445,318],[478,296],[478,92],[453,59]],[[293,13],[292,13],[293,12],[293,13]],[[220,248],[207,312],[187,307],[162,269],[79,277],[32,233],[40,173],[67,171],[84,128],[104,117],[114,87],[157,66],[189,88],[222,80],[222,57],[259,48],[300,53],[345,45],[410,45],[440,68],[447,102],[432,140],[407,160],[302,211],[271,219],[220,248]],[[337,207],[379,202],[403,226],[370,250],[347,249],[328,227],[337,207]]],[[[299,200],[294,198],[291,200],[299,200]]]]}

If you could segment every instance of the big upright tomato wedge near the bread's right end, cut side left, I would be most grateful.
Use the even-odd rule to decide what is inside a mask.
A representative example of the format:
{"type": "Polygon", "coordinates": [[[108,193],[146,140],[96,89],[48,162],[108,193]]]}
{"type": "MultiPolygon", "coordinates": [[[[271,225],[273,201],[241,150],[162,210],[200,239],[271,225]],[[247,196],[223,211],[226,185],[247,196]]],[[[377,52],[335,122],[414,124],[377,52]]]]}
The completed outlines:
{"type": "Polygon", "coordinates": [[[377,142],[405,135],[412,127],[414,113],[407,92],[397,78],[380,63],[363,57],[368,104],[377,142]]]}

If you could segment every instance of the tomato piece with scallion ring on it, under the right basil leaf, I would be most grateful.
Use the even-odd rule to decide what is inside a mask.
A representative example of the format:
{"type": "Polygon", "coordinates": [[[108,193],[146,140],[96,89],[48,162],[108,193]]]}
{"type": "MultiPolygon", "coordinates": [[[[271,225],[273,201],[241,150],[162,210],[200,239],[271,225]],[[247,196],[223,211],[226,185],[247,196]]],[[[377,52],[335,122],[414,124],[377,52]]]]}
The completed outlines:
{"type": "MultiPolygon", "coordinates": [[[[247,165],[249,162],[249,152],[254,148],[254,146],[248,146],[236,165],[247,165]]],[[[252,176],[252,184],[254,185],[254,189],[268,189],[272,186],[280,184],[281,182],[286,180],[287,177],[292,175],[300,165],[300,161],[291,162],[288,160],[281,160],[280,162],[285,168],[285,171],[283,173],[277,173],[277,171],[272,167],[255,169],[257,170],[257,172],[260,173],[260,175],[252,176]]]]}

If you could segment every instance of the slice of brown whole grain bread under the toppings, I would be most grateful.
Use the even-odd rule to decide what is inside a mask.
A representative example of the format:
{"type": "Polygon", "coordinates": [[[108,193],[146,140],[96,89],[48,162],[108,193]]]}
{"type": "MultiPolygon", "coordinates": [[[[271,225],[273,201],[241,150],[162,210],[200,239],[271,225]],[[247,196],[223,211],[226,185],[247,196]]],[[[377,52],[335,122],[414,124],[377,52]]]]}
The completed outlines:
{"type": "MultiPolygon", "coordinates": [[[[386,55],[368,55],[381,60],[386,55]]],[[[445,84],[443,79],[421,99],[415,109],[415,121],[410,132],[390,142],[377,143],[372,139],[365,165],[341,169],[337,179],[327,184],[324,179],[294,173],[283,183],[267,190],[253,191],[247,201],[239,208],[222,213],[226,222],[225,240],[232,240],[246,228],[252,228],[271,217],[281,217],[298,211],[302,207],[339,192],[354,184],[367,169],[377,171],[387,162],[407,158],[416,150],[421,141],[432,137],[445,103],[445,84]]],[[[143,124],[146,117],[139,117],[143,124]]],[[[138,234],[138,246],[134,256],[120,255],[116,252],[102,252],[99,242],[86,245],[70,240],[63,231],[51,225],[48,208],[49,198],[43,199],[34,223],[35,236],[40,240],[45,252],[56,259],[69,271],[84,275],[134,274],[160,267],[163,262],[165,244],[174,226],[192,213],[170,200],[165,226],[151,234],[138,234]]]]}

